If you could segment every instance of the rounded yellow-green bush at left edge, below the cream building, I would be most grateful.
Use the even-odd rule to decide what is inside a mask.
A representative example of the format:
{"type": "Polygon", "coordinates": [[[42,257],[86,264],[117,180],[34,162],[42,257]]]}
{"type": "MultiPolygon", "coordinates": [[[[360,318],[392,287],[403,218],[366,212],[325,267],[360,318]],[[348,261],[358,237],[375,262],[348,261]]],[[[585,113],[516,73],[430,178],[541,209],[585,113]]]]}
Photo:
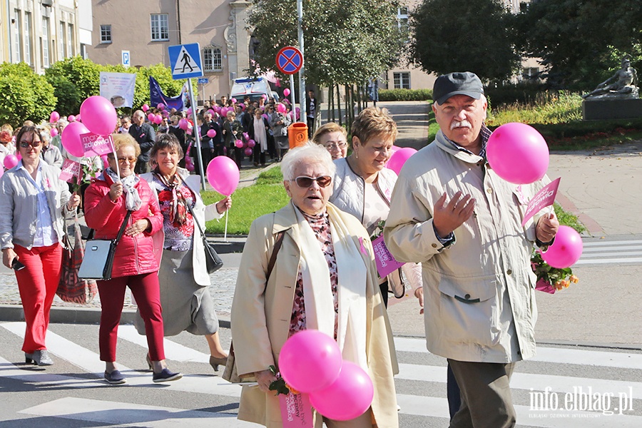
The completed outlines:
{"type": "Polygon", "coordinates": [[[54,88],[26,63],[0,65],[0,123],[21,126],[26,120],[49,119],[56,106],[54,88]]]}

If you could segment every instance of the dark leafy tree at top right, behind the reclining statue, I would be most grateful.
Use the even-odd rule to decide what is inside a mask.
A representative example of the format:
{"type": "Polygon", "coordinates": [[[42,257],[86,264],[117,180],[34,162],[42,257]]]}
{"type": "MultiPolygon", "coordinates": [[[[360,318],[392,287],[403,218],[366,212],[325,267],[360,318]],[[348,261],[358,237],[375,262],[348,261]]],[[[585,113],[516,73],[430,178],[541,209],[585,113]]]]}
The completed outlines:
{"type": "Polygon", "coordinates": [[[623,54],[642,66],[639,0],[539,0],[517,21],[521,50],[541,58],[551,87],[592,89],[619,68],[623,54]]]}

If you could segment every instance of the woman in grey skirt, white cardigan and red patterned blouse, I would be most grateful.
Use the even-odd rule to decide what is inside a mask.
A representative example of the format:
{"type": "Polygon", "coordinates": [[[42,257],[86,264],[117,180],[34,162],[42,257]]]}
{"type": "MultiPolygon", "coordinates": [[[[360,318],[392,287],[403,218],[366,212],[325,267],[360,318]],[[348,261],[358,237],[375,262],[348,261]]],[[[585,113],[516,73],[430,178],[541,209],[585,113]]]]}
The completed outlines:
{"type": "MultiPolygon", "coordinates": [[[[163,213],[163,229],[154,239],[158,240],[158,248],[163,248],[157,258],[161,261],[158,277],[165,336],[178,335],[183,330],[204,335],[210,348],[210,365],[218,370],[218,365],[225,365],[228,356],[218,337],[218,318],[208,290],[210,275],[205,248],[195,222],[205,229],[205,220],[220,218],[230,209],[232,200],[228,196],[212,205],[203,204],[198,175],[189,175],[187,170],[178,168],[183,149],[173,134],[158,136],[150,158],[156,161],[156,168],[141,177],[155,190],[163,213]]],[[[145,330],[139,318],[136,328],[143,334],[145,330]]]]}

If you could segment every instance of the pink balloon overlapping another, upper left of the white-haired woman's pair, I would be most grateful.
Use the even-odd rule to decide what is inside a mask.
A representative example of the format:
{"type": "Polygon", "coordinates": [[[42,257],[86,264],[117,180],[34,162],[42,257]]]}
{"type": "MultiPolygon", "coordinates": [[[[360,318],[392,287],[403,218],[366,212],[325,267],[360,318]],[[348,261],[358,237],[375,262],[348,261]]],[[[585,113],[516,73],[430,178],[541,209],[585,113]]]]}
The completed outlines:
{"type": "Polygon", "coordinates": [[[329,387],[341,367],[339,345],[319,330],[302,330],[290,336],[279,355],[281,376],[300,392],[329,387]]]}

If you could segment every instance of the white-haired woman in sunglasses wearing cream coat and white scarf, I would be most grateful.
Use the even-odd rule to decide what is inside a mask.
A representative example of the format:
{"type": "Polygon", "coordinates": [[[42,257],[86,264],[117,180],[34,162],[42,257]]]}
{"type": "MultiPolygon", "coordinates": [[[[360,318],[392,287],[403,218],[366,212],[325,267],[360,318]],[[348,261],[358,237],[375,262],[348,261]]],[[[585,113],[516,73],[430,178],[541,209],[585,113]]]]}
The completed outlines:
{"type": "Polygon", "coordinates": [[[370,238],[356,218],[328,203],[335,165],[325,148],[294,148],[281,170],[290,203],[252,224],[232,304],[236,368],[258,382],[243,387],[238,418],[282,427],[268,369],[278,366],[288,337],[315,329],[334,337],[344,360],[360,365],[374,383],[364,414],[347,422],[315,414],[315,427],[398,427],[397,360],[370,238]]]}

